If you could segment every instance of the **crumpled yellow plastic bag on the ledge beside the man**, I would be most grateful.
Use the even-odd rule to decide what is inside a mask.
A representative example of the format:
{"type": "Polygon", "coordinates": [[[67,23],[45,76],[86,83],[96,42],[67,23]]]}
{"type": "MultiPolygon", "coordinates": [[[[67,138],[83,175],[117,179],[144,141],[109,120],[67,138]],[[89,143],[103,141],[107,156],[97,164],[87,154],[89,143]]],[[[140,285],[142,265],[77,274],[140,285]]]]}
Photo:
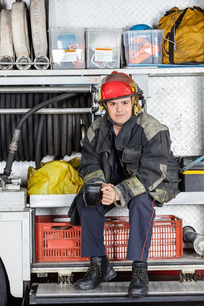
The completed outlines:
{"type": "Polygon", "coordinates": [[[52,161],[36,170],[28,169],[28,194],[75,194],[83,185],[83,179],[77,170],[80,160],[74,158],[69,162],[52,161]]]}

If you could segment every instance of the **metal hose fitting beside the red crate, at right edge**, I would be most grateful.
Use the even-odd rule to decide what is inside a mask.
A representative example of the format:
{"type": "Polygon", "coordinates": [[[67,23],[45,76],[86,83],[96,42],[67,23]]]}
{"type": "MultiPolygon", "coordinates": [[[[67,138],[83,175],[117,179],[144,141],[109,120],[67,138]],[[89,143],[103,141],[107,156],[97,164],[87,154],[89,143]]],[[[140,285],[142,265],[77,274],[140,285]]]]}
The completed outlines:
{"type": "Polygon", "coordinates": [[[192,243],[195,251],[204,256],[204,235],[196,233],[192,226],[187,225],[183,227],[183,240],[192,243]]]}

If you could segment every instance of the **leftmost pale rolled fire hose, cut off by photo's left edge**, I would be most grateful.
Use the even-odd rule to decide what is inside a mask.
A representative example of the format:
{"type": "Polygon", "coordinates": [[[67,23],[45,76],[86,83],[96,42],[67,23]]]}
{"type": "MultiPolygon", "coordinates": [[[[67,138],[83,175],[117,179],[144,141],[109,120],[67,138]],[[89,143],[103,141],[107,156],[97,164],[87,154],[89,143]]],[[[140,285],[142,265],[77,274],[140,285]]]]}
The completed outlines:
{"type": "MultiPolygon", "coordinates": [[[[11,25],[11,10],[2,10],[1,12],[1,58],[0,62],[11,63],[13,62],[13,37],[12,37],[12,25],[11,25]]],[[[0,64],[1,70],[12,69],[13,65],[0,64]]]]}

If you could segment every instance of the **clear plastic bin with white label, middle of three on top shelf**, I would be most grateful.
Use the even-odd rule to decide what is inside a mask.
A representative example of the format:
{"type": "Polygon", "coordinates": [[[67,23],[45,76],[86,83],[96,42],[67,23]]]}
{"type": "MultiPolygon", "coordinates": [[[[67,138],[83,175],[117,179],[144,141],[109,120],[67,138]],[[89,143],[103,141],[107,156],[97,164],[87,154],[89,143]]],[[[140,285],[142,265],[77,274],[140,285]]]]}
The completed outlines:
{"type": "Polygon", "coordinates": [[[86,29],[87,68],[120,68],[121,30],[86,29]]]}

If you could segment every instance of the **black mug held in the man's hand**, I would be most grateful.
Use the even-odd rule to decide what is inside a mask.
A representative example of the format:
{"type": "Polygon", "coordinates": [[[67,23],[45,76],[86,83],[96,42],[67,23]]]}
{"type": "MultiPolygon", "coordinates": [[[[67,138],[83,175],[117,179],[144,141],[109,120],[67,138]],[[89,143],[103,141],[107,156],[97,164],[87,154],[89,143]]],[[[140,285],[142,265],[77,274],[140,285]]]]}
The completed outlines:
{"type": "Polygon", "coordinates": [[[99,183],[85,183],[84,184],[84,201],[86,207],[96,208],[101,201],[102,184],[99,183]]]}

